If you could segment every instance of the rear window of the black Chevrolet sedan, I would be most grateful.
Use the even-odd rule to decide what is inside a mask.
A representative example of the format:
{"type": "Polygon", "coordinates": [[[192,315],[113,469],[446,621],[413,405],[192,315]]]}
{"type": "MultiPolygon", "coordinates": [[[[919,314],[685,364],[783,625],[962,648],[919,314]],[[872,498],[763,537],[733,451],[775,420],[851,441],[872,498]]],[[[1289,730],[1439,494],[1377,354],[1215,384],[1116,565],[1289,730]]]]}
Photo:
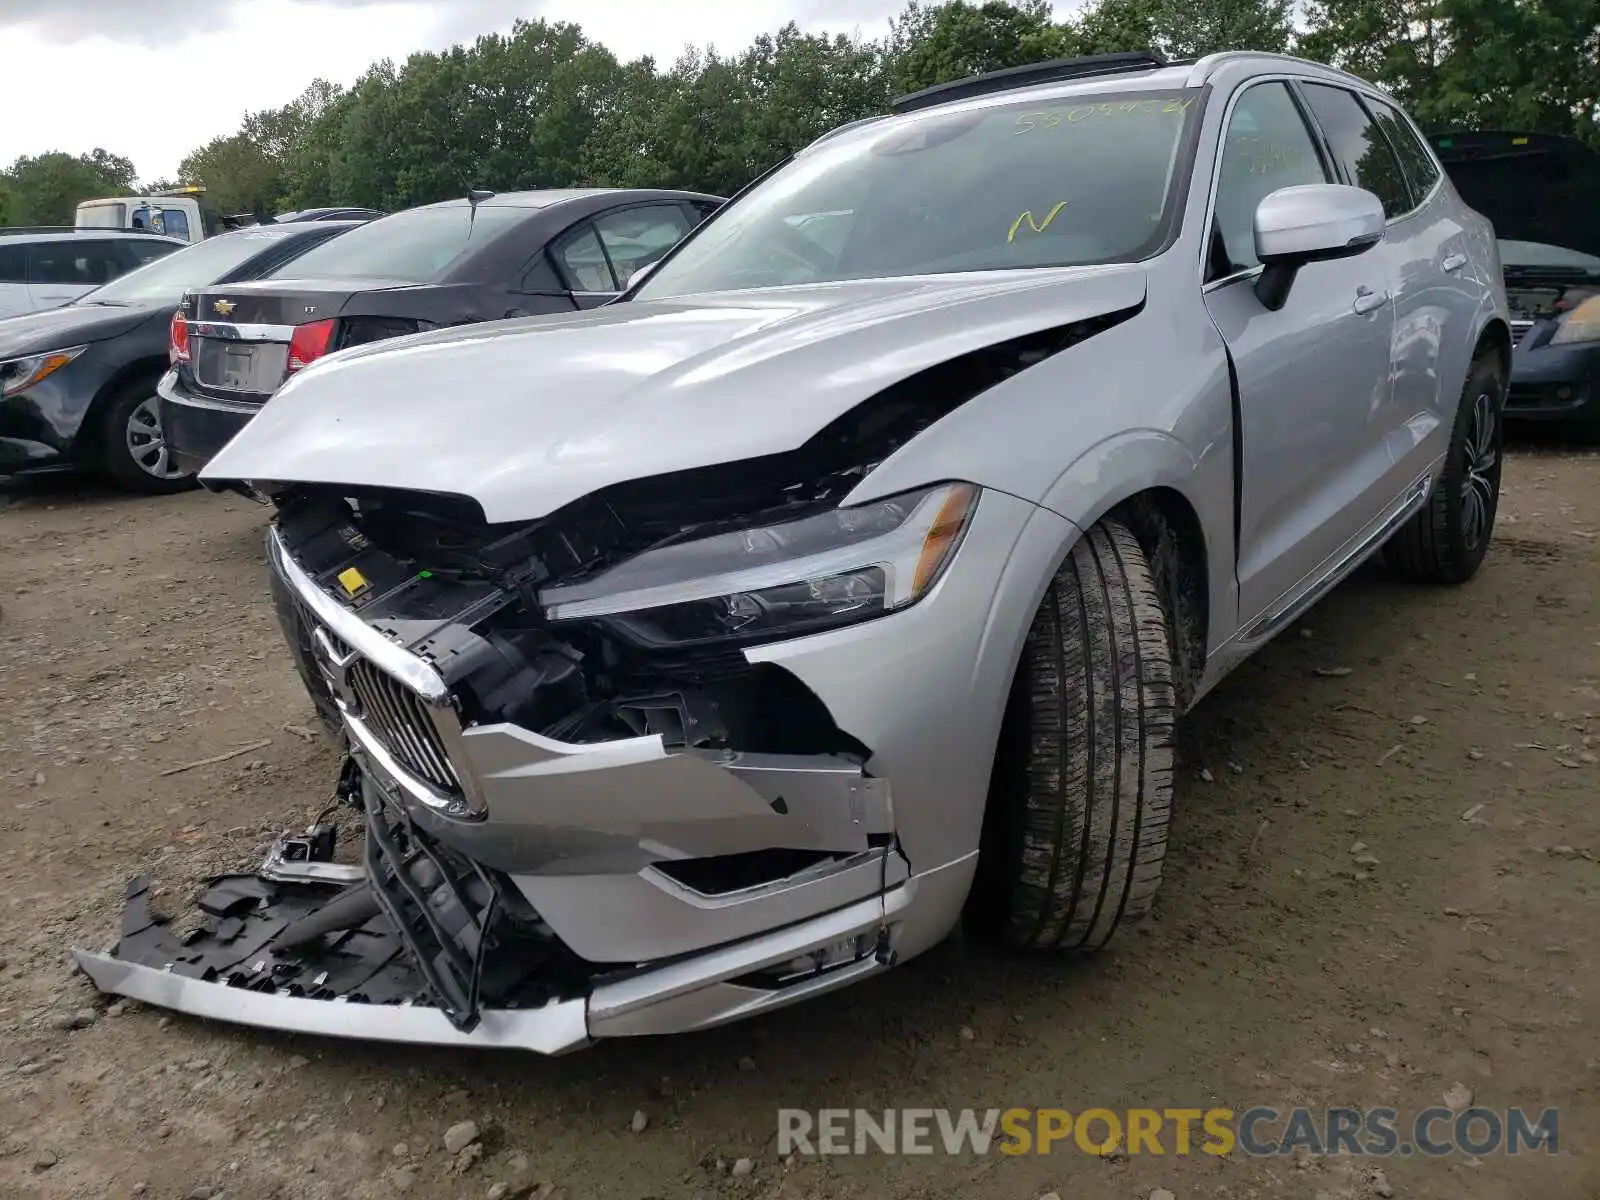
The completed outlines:
{"type": "Polygon", "coordinates": [[[294,278],[390,278],[430,283],[469,248],[530,216],[526,208],[413,208],[352,229],[294,261],[294,278]]]}

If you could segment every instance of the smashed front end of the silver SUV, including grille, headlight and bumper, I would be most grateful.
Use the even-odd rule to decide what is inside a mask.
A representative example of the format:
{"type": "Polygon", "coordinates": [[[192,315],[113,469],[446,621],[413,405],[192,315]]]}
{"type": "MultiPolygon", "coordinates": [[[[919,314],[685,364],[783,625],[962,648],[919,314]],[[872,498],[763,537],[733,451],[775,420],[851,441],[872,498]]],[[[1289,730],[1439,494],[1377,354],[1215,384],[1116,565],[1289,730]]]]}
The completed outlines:
{"type": "Polygon", "coordinates": [[[189,930],[136,880],[117,947],[78,962],[210,1018],[546,1053],[890,965],[914,890],[890,784],[795,675],[742,653],[891,611],[954,554],[974,488],[840,528],[858,477],[765,470],[688,530],[654,485],[509,530],[453,498],[278,490],[274,597],[346,741],[334,811],[362,861],[334,861],[320,822],[213,880],[189,930]],[[800,582],[702,562],[752,528],[794,539],[800,582]],[[866,565],[822,573],[854,562],[838,542],[866,565]],[[714,582],[674,584],[685,557],[714,582]]]}

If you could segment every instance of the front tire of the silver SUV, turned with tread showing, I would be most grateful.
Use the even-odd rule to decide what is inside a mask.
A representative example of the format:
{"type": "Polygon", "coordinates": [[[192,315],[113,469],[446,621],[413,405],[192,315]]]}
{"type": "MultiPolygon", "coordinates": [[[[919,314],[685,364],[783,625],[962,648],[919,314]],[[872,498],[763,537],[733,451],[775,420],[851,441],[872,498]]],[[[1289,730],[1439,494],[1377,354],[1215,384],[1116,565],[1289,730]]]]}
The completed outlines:
{"type": "Polygon", "coordinates": [[[1002,723],[965,926],[1008,949],[1096,950],[1162,883],[1173,651],[1139,542],[1104,520],[1034,616],[1002,723]]]}

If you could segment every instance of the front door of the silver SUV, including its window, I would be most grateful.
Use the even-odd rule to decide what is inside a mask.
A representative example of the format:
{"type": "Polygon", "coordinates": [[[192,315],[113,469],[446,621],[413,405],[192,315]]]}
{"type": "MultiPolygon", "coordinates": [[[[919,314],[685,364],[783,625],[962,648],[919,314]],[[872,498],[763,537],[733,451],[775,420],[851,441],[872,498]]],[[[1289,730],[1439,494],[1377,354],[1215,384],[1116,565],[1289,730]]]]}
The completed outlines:
{"type": "Polygon", "coordinates": [[[1235,93],[1213,190],[1205,306],[1238,387],[1238,603],[1253,622],[1331,570],[1378,514],[1389,470],[1394,302],[1373,251],[1301,269],[1282,309],[1254,293],[1256,205],[1331,182],[1325,149],[1285,80],[1235,93]]]}

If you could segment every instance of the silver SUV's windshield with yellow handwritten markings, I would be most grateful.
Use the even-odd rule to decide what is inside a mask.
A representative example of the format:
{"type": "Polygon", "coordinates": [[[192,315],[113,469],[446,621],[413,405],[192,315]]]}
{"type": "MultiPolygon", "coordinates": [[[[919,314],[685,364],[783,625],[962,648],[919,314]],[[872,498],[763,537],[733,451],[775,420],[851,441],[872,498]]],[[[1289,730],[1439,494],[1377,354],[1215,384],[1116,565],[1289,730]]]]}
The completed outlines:
{"type": "Polygon", "coordinates": [[[1198,91],[930,112],[835,134],[739,198],[637,299],[1160,250],[1198,91]]]}

